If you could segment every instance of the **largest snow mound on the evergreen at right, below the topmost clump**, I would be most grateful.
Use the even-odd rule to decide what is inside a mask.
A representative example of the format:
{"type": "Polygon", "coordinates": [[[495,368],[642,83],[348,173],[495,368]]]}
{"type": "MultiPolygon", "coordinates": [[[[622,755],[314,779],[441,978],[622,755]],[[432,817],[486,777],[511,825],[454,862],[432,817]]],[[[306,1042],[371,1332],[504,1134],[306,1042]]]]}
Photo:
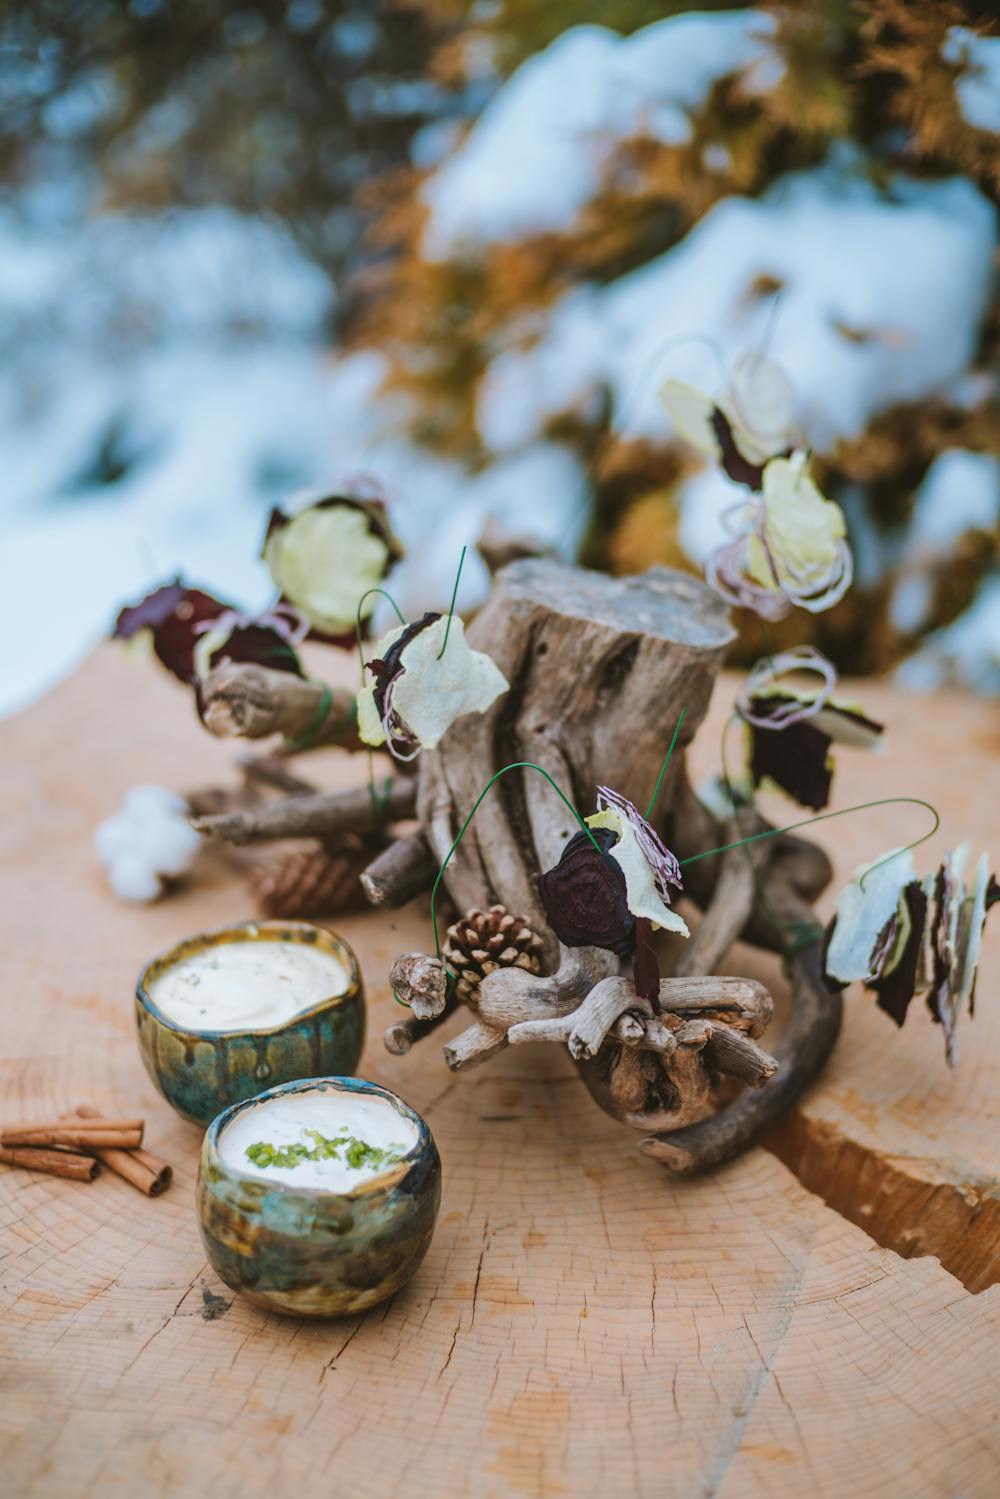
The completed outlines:
{"type": "Polygon", "coordinates": [[[717,390],[736,354],[766,342],[808,439],[828,450],[963,373],[996,232],[993,205],[969,181],[900,177],[883,195],[838,162],[760,199],[727,198],[648,265],[571,291],[534,348],[498,355],[480,388],[480,432],[510,451],[606,384],[621,432],[666,438],[657,390],[667,375],[717,390]],[[754,295],[762,277],[781,285],[777,306],[754,295]]]}

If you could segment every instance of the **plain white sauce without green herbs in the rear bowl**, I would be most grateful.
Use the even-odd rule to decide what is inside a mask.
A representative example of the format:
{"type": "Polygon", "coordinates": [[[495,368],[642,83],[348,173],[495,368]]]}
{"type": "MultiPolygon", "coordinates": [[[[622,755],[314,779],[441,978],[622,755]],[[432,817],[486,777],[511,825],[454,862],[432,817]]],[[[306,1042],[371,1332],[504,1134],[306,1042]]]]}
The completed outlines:
{"type": "Polygon", "coordinates": [[[324,947],[247,938],[183,958],[150,983],[150,998],[192,1031],[274,1030],[343,994],[349,974],[324,947]]]}

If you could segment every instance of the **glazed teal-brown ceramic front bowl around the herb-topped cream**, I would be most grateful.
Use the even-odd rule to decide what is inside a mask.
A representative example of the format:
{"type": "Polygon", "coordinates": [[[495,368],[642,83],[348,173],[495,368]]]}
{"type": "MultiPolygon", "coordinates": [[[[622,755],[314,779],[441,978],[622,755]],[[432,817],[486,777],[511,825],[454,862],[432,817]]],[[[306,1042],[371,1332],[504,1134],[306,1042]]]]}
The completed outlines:
{"type": "Polygon", "coordinates": [[[268,1088],[220,1114],[201,1148],[198,1223],[213,1268],[256,1306],[291,1316],[349,1316],[391,1297],[424,1258],[439,1202],[441,1160],[426,1123],[388,1088],[360,1078],[268,1088]],[[241,1115],[276,1097],[322,1091],[384,1099],[415,1141],[352,1190],[261,1180],[223,1159],[219,1142],[241,1115]]]}

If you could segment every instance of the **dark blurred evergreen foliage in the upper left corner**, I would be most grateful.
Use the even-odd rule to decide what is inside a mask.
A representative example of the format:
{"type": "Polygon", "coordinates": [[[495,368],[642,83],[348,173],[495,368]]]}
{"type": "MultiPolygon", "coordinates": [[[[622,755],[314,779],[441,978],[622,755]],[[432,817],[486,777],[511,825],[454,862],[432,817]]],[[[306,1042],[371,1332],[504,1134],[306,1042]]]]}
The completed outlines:
{"type": "Polygon", "coordinates": [[[462,106],[429,76],[441,40],[405,3],[4,0],[0,175],[58,175],[93,208],[273,214],[349,271],[369,184],[462,106]]]}

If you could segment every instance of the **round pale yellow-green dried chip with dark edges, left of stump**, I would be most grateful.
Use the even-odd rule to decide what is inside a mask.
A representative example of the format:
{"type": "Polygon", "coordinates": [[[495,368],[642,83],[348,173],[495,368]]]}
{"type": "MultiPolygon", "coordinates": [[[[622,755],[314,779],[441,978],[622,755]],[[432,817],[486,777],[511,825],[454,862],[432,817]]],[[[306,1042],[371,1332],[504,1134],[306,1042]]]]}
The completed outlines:
{"type": "MultiPolygon", "coordinates": [[[[381,499],[324,495],[294,514],[271,511],[261,556],[282,598],[309,621],[312,639],[349,645],[358,603],[402,556],[402,546],[381,499]]],[[[372,595],[361,619],[373,607],[372,595]]]]}

